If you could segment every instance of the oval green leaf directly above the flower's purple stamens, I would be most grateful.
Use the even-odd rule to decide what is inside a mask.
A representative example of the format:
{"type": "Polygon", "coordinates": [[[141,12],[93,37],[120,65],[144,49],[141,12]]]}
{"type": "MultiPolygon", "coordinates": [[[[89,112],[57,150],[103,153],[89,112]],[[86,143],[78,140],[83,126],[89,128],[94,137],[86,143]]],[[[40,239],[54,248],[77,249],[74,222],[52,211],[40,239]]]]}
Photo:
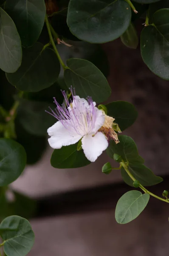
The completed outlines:
{"type": "Polygon", "coordinates": [[[91,96],[97,103],[105,101],[111,94],[110,86],[101,71],[90,61],[70,58],[65,70],[65,82],[74,87],[81,98],[91,96]]]}

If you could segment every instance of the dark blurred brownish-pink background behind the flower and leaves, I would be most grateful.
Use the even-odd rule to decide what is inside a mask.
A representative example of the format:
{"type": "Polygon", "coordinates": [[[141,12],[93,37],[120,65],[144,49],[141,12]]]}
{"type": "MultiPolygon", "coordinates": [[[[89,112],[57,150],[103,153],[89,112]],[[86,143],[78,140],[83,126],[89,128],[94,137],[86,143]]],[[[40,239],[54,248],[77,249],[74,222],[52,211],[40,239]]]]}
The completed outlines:
{"type": "MultiPolygon", "coordinates": [[[[140,22],[137,26],[139,30],[143,25],[140,22]]],[[[45,44],[45,40],[48,43],[45,28],[43,32],[39,41],[45,44]]],[[[146,166],[164,177],[163,183],[150,188],[161,196],[164,189],[169,189],[169,81],[149,71],[141,59],[139,47],[128,49],[120,40],[101,47],[89,47],[89,44],[79,41],[70,43],[73,45],[70,48],[65,45],[58,47],[62,58],[73,56],[93,60],[93,63],[96,61],[112,88],[112,96],[107,102],[124,100],[137,108],[138,119],[123,134],[135,140],[146,166]]],[[[0,72],[0,86],[3,88],[0,102],[9,109],[15,88],[0,72]]],[[[51,103],[55,93],[60,93],[60,88],[64,87],[62,74],[58,84],[57,89],[55,84],[50,90],[31,93],[27,97],[51,103]]],[[[17,214],[28,217],[35,232],[35,244],[28,255],[166,256],[169,250],[168,205],[151,198],[137,219],[129,224],[117,224],[115,205],[130,187],[123,183],[118,170],[110,175],[101,172],[107,161],[113,166],[117,166],[116,163],[104,152],[89,166],[54,169],[50,164],[53,150],[45,136],[48,126],[39,133],[39,127],[34,126],[34,120],[45,123],[47,114],[44,106],[40,108],[41,112],[38,111],[39,106],[21,105],[18,112],[17,141],[27,151],[28,165],[23,175],[10,185],[15,197],[20,197],[22,209],[17,214]],[[42,116],[39,117],[37,112],[42,116]],[[25,123],[25,115],[31,116],[29,123],[25,123]]],[[[9,198],[12,200],[12,194],[9,198]]]]}

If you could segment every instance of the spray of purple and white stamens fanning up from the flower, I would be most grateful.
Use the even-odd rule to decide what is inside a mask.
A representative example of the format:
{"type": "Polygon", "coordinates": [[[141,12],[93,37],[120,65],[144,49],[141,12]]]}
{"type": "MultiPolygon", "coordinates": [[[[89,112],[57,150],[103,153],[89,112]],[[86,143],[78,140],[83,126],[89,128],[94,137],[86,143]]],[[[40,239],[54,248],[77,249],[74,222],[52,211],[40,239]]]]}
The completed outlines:
{"type": "Polygon", "coordinates": [[[97,109],[91,97],[87,97],[86,102],[80,99],[79,96],[76,96],[74,88],[71,87],[70,92],[73,101],[70,100],[69,102],[65,91],[62,91],[65,104],[59,105],[54,98],[54,103],[56,104],[55,110],[49,107],[51,112],[46,112],[58,119],[70,133],[77,133],[84,136],[85,134],[93,132],[95,128],[97,109]]]}

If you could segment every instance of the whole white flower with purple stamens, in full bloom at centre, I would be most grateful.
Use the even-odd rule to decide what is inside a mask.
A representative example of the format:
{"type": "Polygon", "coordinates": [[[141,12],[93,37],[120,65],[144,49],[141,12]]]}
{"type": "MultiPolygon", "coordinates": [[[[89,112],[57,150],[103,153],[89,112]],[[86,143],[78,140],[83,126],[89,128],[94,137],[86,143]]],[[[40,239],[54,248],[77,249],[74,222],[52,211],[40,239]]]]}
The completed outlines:
{"type": "MultiPolygon", "coordinates": [[[[66,93],[64,91],[62,93],[65,104],[59,105],[54,98],[56,108],[54,111],[50,108],[51,115],[59,121],[48,128],[48,135],[51,136],[48,139],[49,145],[59,149],[62,146],[75,144],[82,139],[85,156],[94,162],[108,147],[109,138],[104,134],[103,129],[106,115],[96,108],[96,102],[93,102],[90,97],[87,100],[80,98],[71,89],[73,101],[69,102],[66,93]]],[[[114,119],[112,117],[110,119],[112,119],[112,126],[114,119]]]]}

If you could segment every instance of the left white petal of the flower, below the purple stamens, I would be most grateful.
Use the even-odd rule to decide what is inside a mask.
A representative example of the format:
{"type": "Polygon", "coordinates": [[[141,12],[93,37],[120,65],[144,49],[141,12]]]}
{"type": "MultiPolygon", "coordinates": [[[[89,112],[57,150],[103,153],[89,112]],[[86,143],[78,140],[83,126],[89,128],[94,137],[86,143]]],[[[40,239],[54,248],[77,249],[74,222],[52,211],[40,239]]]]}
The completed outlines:
{"type": "Polygon", "coordinates": [[[51,136],[48,139],[51,148],[62,148],[62,146],[72,145],[82,138],[81,135],[68,131],[60,121],[48,128],[48,135],[51,136]]]}

